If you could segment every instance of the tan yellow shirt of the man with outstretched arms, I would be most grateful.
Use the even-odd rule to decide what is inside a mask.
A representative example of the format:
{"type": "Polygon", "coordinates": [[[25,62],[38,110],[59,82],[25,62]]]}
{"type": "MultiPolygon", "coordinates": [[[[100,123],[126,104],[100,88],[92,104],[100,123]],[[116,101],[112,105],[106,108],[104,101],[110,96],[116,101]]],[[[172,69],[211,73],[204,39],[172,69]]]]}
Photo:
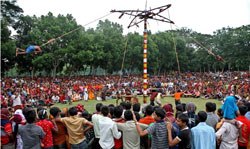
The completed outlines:
{"type": "Polygon", "coordinates": [[[67,127],[70,144],[79,144],[86,139],[85,136],[82,136],[83,125],[87,122],[85,118],[75,115],[61,118],[61,122],[67,127]]]}

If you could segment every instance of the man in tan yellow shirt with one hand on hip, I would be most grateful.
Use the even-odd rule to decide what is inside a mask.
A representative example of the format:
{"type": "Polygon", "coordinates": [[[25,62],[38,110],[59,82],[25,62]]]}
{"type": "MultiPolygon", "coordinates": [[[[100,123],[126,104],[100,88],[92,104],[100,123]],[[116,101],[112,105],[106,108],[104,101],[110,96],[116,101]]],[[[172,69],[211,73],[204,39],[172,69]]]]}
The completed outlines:
{"type": "Polygon", "coordinates": [[[64,123],[67,127],[71,148],[87,149],[88,143],[84,133],[93,127],[93,124],[85,118],[78,117],[76,107],[71,107],[69,109],[69,115],[70,117],[64,117],[57,120],[64,123]],[[83,130],[84,124],[88,125],[88,127],[83,130]]]}

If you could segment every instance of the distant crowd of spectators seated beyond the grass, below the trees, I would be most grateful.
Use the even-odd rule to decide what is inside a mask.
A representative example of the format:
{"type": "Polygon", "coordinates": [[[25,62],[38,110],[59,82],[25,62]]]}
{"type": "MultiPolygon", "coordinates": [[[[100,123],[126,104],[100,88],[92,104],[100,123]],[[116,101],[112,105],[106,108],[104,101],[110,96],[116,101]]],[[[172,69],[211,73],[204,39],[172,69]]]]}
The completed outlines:
{"type": "MultiPolygon", "coordinates": [[[[148,80],[148,94],[157,88],[163,96],[173,96],[181,90],[185,96],[224,99],[231,93],[249,100],[250,73],[182,73],[175,72],[152,76],[148,80]]],[[[131,76],[83,76],[83,77],[37,77],[2,78],[1,105],[33,106],[74,102],[79,100],[108,100],[128,95],[142,95],[143,80],[131,76]]],[[[130,100],[128,98],[128,100],[130,100]]]]}

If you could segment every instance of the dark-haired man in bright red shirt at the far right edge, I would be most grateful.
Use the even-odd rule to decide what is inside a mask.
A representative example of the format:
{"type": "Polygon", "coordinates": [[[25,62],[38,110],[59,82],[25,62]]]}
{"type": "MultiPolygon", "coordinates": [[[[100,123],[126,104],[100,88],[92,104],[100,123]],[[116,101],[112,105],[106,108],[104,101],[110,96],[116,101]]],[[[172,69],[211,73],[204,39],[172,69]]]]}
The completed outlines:
{"type": "Polygon", "coordinates": [[[238,116],[236,120],[243,123],[241,126],[243,140],[238,139],[238,146],[239,146],[239,149],[243,149],[243,148],[247,149],[247,145],[248,145],[249,137],[250,137],[250,121],[244,115],[247,113],[248,108],[245,105],[240,105],[239,111],[240,111],[240,116],[238,116]]]}

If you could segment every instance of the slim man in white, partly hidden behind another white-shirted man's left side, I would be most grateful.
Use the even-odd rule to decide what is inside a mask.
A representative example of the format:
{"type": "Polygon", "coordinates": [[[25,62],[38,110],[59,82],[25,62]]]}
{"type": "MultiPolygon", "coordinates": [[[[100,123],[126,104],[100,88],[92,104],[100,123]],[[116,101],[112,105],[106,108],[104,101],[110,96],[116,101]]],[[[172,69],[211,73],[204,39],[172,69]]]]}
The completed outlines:
{"type": "Polygon", "coordinates": [[[100,140],[100,126],[99,126],[99,120],[101,119],[101,108],[102,108],[102,103],[96,104],[96,113],[92,116],[92,123],[94,124],[94,133],[95,133],[95,139],[93,142],[93,148],[94,149],[100,149],[101,146],[99,144],[100,140]]]}

